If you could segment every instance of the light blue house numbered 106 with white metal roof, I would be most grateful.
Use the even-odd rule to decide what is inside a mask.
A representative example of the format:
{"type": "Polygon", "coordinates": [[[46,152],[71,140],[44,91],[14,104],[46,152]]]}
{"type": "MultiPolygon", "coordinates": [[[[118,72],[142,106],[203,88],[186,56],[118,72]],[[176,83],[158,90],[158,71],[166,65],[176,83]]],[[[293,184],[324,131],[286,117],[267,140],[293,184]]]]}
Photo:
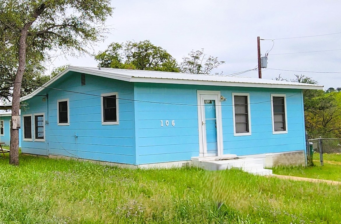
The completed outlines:
{"type": "Polygon", "coordinates": [[[21,99],[22,152],[139,166],[230,154],[305,164],[302,89],[322,88],[69,67],[21,99]]]}

